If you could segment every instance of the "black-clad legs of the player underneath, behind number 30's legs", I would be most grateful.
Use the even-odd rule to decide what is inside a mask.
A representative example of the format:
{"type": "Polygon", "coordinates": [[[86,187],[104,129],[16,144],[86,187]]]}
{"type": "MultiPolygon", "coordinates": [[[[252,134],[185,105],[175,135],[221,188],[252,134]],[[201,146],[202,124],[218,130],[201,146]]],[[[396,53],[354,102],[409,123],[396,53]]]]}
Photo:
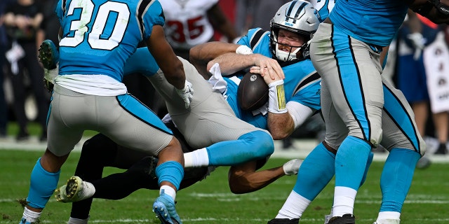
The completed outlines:
{"type": "MultiPolygon", "coordinates": [[[[181,140],[182,150],[185,152],[192,151],[192,148],[187,146],[173,123],[166,123],[166,125],[181,140]]],[[[61,202],[74,202],[68,223],[87,223],[93,198],[120,200],[141,188],[159,189],[158,179],[155,174],[156,165],[156,158],[149,156],[147,153],[118,146],[103,134],[97,134],[88,139],[83,144],[75,176],[81,177],[80,186],[89,184],[87,181],[91,182],[94,191],[89,192],[91,189],[86,190],[86,188],[83,188],[82,191],[85,192],[81,192],[81,194],[84,196],[78,197],[76,199],[80,200],[78,202],[74,202],[73,198],[68,199],[67,197],[60,200],[61,202]],[[101,178],[103,167],[116,167],[128,170],[101,178]]],[[[185,178],[182,179],[180,189],[187,188],[203,180],[207,172],[207,167],[186,169],[185,178]]],[[[64,193],[65,188],[67,188],[67,185],[60,188],[62,189],[60,193],[64,193]]]]}

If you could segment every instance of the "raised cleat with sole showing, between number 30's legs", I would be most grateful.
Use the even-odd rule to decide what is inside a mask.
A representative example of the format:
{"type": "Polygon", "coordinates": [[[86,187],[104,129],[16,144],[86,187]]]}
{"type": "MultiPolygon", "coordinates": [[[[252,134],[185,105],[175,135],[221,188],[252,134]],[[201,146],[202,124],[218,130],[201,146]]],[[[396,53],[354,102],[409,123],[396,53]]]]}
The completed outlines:
{"type": "Polygon", "coordinates": [[[72,176],[65,186],[55,190],[57,202],[78,202],[92,197],[95,187],[92,183],[83,181],[79,176],[72,176]]]}

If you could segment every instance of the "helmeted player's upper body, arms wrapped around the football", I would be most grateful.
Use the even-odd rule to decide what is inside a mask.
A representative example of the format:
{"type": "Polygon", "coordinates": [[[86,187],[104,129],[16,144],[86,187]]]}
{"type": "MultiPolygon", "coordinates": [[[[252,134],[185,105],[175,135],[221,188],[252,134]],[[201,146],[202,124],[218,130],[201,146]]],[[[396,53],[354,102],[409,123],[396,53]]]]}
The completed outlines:
{"type": "MultiPolygon", "coordinates": [[[[227,102],[237,117],[269,130],[274,139],[283,139],[320,109],[321,78],[307,50],[307,42],[320,22],[310,3],[290,1],[276,12],[270,21],[270,31],[250,29],[237,44],[197,45],[190,51],[190,59],[203,76],[210,77],[217,89],[221,86],[217,83],[225,81],[227,88],[222,89],[226,90],[223,92],[227,102]],[[220,72],[210,73],[217,71],[217,65],[220,72]],[[272,79],[278,66],[285,76],[272,79]],[[254,111],[243,111],[237,99],[239,82],[247,71],[260,73],[269,85],[267,104],[254,111]]],[[[206,156],[201,151],[185,153],[185,158],[201,160],[206,156]]],[[[232,192],[246,193],[253,187],[256,167],[257,161],[231,167],[229,186],[232,192]]]]}

